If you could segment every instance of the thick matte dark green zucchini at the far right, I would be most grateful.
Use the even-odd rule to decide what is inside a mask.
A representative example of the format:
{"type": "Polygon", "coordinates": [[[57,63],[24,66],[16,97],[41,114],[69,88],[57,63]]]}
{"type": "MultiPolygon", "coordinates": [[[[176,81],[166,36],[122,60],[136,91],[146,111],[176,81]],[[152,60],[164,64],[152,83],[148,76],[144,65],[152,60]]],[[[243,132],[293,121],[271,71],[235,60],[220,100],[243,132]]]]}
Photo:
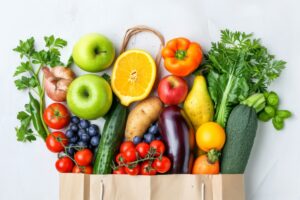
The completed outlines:
{"type": "Polygon", "coordinates": [[[236,106],[226,126],[226,143],[221,160],[221,173],[243,174],[257,130],[256,110],[248,105],[236,106]]]}

